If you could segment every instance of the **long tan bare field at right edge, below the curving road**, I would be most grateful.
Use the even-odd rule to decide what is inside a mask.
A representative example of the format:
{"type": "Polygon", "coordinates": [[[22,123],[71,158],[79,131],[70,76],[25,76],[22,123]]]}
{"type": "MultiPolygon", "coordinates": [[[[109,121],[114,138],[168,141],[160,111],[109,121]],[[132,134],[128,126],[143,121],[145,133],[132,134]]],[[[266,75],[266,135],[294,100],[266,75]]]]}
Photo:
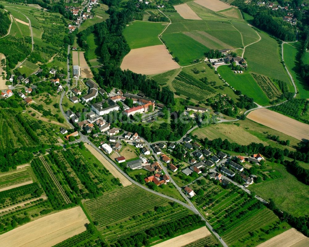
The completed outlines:
{"type": "Polygon", "coordinates": [[[298,140],[309,140],[309,125],[266,108],[250,112],[247,118],[298,140]]]}

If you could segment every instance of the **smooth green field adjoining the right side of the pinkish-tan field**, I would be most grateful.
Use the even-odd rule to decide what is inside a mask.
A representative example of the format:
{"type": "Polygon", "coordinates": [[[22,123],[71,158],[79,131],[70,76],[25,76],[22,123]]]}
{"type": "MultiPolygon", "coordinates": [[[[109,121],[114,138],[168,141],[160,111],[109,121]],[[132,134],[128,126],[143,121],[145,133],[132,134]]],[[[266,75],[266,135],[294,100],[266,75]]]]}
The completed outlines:
{"type": "Polygon", "coordinates": [[[209,48],[183,33],[164,33],[162,38],[169,52],[172,52],[173,57],[179,58],[179,64],[182,66],[203,58],[204,53],[209,51],[209,48]]]}

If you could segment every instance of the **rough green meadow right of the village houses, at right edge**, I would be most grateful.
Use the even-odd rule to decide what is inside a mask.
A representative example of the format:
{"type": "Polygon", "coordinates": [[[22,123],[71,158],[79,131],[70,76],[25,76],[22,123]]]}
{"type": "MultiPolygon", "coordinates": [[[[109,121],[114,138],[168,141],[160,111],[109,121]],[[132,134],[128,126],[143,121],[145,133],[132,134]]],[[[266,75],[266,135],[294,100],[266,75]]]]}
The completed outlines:
{"type": "Polygon", "coordinates": [[[281,174],[281,177],[253,184],[250,186],[250,190],[267,201],[272,198],[279,209],[294,216],[308,214],[308,186],[287,172],[283,165],[271,162],[267,162],[267,164],[269,165],[267,169],[275,169],[281,174]]]}

